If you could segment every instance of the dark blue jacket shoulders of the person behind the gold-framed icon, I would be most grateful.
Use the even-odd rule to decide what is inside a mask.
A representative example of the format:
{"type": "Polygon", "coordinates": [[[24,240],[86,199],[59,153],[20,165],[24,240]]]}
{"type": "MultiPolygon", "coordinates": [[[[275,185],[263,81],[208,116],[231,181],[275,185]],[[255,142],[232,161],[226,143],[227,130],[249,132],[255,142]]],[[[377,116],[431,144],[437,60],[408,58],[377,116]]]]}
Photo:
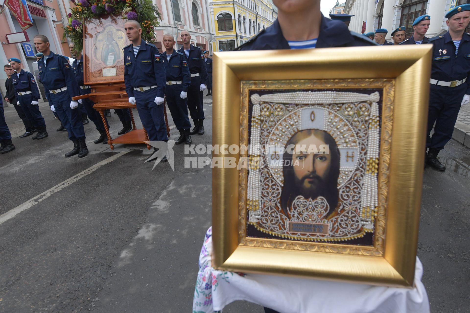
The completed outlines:
{"type": "MultiPolygon", "coordinates": [[[[348,46],[376,46],[376,43],[355,32],[349,31],[345,23],[330,20],[321,15],[320,34],[317,38],[316,48],[348,47],[348,46]]],[[[281,26],[276,19],[258,35],[235,50],[275,50],[290,49],[289,43],[282,35],[281,26]]]]}

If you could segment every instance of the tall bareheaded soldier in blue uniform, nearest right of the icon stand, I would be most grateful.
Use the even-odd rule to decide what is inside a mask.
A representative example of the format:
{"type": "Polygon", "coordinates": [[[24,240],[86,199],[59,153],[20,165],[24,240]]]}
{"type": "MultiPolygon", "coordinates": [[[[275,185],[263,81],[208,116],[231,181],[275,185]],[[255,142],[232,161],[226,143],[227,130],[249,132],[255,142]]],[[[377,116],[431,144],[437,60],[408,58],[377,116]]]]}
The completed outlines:
{"type": "MultiPolygon", "coordinates": [[[[124,83],[129,102],[136,104],[149,140],[168,141],[162,106],[166,73],[160,53],[155,45],[142,40],[139,22],[128,20],[125,22],[124,29],[127,38],[132,42],[123,48],[124,83]]],[[[154,150],[157,151],[157,148],[154,150]]],[[[165,155],[162,162],[166,161],[165,155]]]]}

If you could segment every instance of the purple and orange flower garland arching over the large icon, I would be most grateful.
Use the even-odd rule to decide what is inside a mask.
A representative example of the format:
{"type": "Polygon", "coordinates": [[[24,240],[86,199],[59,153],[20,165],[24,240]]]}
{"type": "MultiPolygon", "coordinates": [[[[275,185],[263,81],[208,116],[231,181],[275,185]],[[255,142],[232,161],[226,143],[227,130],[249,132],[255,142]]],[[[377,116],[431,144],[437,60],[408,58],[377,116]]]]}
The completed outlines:
{"type": "Polygon", "coordinates": [[[155,41],[154,27],[159,25],[160,11],[152,0],[71,0],[75,7],[69,13],[69,24],[64,38],[68,37],[78,51],[83,50],[83,23],[86,19],[114,15],[141,24],[142,39],[155,41]],[[95,1],[95,2],[94,2],[95,1]]]}

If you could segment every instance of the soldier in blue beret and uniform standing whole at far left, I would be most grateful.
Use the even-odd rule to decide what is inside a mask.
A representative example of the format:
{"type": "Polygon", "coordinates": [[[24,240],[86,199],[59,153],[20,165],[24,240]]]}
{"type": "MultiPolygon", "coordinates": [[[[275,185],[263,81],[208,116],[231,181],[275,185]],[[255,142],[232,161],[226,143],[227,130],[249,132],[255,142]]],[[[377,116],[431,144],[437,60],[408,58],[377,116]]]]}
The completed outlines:
{"type": "Polygon", "coordinates": [[[43,139],[49,136],[46,130],[46,122],[39,111],[39,90],[34,76],[21,68],[21,61],[16,58],[8,59],[12,69],[16,70],[11,76],[11,83],[15,88],[16,101],[24,110],[24,114],[31,121],[38,133],[33,139],[43,139]]]}

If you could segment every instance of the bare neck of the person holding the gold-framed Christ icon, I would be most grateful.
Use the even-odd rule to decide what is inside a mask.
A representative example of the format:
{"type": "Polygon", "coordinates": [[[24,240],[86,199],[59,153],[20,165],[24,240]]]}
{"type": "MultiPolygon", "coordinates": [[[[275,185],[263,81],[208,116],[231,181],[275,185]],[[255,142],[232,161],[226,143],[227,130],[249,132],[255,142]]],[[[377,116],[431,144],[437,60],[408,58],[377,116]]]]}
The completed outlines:
{"type": "Polygon", "coordinates": [[[286,13],[279,11],[277,20],[282,35],[288,41],[304,41],[318,38],[320,34],[321,12],[320,1],[308,10],[286,13]],[[309,27],[305,27],[309,25],[309,27]]]}

